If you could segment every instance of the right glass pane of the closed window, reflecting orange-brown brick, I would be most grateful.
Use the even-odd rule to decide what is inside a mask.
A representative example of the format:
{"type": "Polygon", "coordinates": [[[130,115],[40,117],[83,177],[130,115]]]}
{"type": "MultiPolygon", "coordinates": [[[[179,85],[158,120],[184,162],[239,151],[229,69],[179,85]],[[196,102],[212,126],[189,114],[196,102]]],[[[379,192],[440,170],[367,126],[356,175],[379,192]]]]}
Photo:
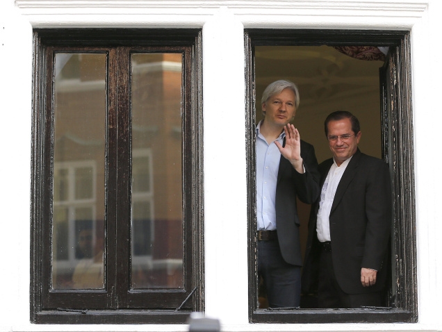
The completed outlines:
{"type": "Polygon", "coordinates": [[[181,58],[131,56],[132,288],[183,288],[181,58]]]}

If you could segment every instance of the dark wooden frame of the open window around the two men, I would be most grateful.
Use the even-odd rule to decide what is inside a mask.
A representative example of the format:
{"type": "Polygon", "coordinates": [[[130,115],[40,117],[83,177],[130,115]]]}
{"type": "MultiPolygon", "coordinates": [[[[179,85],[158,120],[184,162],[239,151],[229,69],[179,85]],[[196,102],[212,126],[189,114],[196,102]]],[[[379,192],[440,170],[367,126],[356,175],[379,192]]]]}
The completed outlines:
{"type": "MultiPolygon", "coordinates": [[[[249,322],[338,323],[417,322],[416,211],[414,143],[411,100],[409,31],[246,29],[246,149],[249,219],[249,322]],[[381,86],[382,154],[393,184],[392,262],[397,280],[386,308],[270,310],[257,308],[256,170],[254,47],[256,46],[374,46],[390,47],[388,64],[379,72],[381,86]]],[[[323,119],[318,122],[322,124],[323,119]]],[[[391,290],[390,290],[391,292],[391,290]]]]}

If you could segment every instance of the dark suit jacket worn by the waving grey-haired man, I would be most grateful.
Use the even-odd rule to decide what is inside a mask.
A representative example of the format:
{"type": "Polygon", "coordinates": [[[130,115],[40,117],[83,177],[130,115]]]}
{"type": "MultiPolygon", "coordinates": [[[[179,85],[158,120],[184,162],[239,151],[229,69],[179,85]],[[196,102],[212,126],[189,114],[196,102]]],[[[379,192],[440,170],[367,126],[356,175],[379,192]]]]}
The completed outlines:
{"type": "Polygon", "coordinates": [[[282,257],[287,263],[299,266],[302,265],[302,256],[296,197],[306,204],[312,204],[319,196],[315,149],[303,140],[301,157],[304,162],[304,174],[298,173],[290,162],[281,156],[275,197],[277,233],[282,257]]]}

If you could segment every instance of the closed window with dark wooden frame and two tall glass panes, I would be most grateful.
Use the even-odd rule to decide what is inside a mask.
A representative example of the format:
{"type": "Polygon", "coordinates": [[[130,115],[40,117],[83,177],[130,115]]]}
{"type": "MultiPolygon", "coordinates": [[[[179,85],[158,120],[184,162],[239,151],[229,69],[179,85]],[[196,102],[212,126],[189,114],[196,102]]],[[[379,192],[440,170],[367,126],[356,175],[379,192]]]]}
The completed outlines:
{"type": "Polygon", "coordinates": [[[35,36],[31,320],[204,310],[201,33],[35,36]]]}

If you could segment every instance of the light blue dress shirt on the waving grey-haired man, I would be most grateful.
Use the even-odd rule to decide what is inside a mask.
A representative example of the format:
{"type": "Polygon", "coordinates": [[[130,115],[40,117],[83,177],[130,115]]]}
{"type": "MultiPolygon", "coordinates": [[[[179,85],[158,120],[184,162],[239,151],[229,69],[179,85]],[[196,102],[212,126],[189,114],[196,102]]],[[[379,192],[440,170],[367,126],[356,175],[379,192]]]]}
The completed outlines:
{"type": "MultiPolygon", "coordinates": [[[[267,143],[261,134],[261,122],[256,126],[256,216],[259,231],[275,231],[275,197],[281,153],[275,142],[267,143]]],[[[282,145],[286,133],[277,141],[282,145]]]]}

